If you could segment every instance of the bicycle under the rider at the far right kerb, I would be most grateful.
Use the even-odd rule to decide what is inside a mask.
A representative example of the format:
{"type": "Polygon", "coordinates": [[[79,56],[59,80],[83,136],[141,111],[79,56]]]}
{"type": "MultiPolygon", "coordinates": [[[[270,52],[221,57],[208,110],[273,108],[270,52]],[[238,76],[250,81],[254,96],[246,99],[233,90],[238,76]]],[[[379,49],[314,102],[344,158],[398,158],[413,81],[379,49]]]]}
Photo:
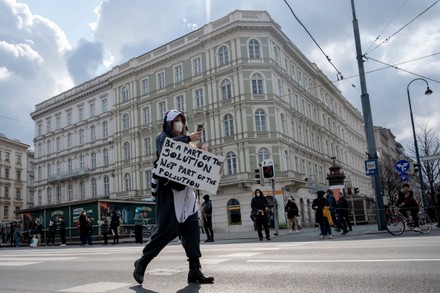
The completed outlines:
{"type": "Polygon", "coordinates": [[[420,230],[413,230],[414,223],[411,217],[402,214],[396,206],[393,206],[391,213],[387,215],[387,230],[391,235],[399,236],[405,232],[406,228],[413,230],[414,232],[420,232],[427,234],[431,232],[432,223],[431,218],[425,211],[420,211],[417,216],[419,217],[420,230]]]}

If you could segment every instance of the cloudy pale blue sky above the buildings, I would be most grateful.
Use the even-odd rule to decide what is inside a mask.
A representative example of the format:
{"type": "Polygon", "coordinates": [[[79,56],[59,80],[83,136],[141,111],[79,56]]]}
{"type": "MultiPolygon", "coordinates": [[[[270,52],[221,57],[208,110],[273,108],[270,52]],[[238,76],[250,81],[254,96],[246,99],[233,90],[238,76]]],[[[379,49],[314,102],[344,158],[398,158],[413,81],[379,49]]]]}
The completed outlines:
{"type": "MultiPolygon", "coordinates": [[[[416,131],[440,135],[439,1],[354,1],[373,124],[406,150],[407,88],[416,131]]],[[[36,104],[237,9],[267,11],[363,112],[351,0],[0,0],[0,133],[33,148],[36,104]]]]}

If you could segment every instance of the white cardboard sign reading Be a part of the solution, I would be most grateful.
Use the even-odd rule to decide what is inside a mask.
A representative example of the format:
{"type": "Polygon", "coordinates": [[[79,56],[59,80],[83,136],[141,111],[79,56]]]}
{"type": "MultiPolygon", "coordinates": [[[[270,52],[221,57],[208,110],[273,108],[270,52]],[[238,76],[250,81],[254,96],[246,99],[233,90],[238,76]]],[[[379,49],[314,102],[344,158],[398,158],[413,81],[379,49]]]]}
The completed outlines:
{"type": "Polygon", "coordinates": [[[166,138],[156,174],[174,182],[216,194],[224,158],[166,138]]]}

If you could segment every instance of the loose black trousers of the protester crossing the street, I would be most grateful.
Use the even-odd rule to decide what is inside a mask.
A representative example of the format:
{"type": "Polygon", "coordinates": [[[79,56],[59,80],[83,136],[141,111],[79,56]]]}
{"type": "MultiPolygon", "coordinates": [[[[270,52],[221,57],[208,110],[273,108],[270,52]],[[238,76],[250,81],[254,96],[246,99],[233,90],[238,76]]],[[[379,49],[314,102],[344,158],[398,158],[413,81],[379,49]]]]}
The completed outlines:
{"type": "Polygon", "coordinates": [[[179,234],[188,258],[202,256],[198,212],[189,216],[184,223],[179,223],[174,211],[174,197],[161,194],[156,197],[156,216],[158,227],[142,251],[145,258],[155,258],[179,234]]]}

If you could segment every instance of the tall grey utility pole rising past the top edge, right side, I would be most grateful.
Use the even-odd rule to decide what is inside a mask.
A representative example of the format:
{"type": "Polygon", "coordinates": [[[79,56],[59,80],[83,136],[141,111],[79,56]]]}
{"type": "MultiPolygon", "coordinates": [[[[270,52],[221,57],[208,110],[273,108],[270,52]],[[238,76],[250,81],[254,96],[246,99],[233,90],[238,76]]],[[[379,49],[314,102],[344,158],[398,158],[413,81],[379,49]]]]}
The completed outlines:
{"type": "MultiPolygon", "coordinates": [[[[353,11],[353,33],[356,45],[356,59],[359,69],[359,79],[361,83],[361,100],[362,112],[364,116],[365,136],[367,139],[368,159],[376,161],[376,166],[379,168],[378,157],[376,151],[376,142],[374,139],[373,118],[371,115],[370,96],[367,91],[367,82],[365,80],[364,61],[362,56],[361,40],[359,36],[359,25],[356,19],[356,11],[354,7],[354,0],[351,0],[351,8],[353,11]]],[[[385,209],[383,205],[382,184],[380,182],[380,172],[376,172],[373,176],[374,191],[376,194],[376,215],[377,226],[379,230],[386,229],[385,209]]]]}

